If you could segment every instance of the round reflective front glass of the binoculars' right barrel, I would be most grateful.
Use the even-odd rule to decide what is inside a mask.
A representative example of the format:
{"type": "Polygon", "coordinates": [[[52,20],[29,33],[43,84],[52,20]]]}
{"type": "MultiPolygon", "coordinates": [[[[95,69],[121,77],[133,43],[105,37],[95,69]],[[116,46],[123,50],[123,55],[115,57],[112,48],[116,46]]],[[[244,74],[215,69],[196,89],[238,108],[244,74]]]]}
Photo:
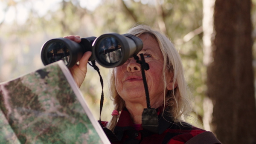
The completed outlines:
{"type": "Polygon", "coordinates": [[[104,63],[116,63],[122,58],[121,44],[114,37],[106,37],[99,42],[99,58],[104,63]]]}

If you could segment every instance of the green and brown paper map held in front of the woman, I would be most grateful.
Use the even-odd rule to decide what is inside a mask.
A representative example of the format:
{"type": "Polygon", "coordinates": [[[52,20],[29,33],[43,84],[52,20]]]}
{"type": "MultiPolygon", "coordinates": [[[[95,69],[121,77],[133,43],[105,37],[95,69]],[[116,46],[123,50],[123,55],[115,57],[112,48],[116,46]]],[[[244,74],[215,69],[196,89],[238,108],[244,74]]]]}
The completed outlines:
{"type": "Polygon", "coordinates": [[[0,84],[1,144],[101,144],[59,64],[0,84]]]}

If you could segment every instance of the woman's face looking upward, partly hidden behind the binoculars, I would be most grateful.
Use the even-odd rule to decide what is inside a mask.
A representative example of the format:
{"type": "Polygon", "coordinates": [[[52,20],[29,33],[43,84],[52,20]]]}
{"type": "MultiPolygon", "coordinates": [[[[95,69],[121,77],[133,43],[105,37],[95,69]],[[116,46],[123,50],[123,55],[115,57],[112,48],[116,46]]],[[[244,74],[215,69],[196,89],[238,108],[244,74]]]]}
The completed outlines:
{"type": "MultiPolygon", "coordinates": [[[[138,53],[143,53],[145,62],[149,64],[149,70],[145,71],[148,84],[151,107],[157,108],[163,104],[164,82],[163,74],[163,55],[157,41],[149,35],[141,35],[143,49],[138,53]]],[[[167,74],[168,79],[171,74],[167,74]]],[[[114,68],[115,85],[118,94],[125,103],[145,104],[145,89],[141,74],[141,67],[134,58],[129,58],[122,66],[114,68]]],[[[169,89],[170,90],[170,89],[169,89]]]]}

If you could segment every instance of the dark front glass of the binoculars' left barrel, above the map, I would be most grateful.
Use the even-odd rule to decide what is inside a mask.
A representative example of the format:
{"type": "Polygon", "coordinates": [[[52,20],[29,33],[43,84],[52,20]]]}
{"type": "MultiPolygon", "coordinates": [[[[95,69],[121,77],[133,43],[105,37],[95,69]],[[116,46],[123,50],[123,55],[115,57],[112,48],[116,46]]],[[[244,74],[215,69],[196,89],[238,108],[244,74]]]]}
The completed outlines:
{"type": "Polygon", "coordinates": [[[67,65],[70,61],[70,51],[67,49],[65,43],[62,42],[52,42],[48,45],[47,49],[47,62],[54,63],[58,60],[63,60],[67,65]],[[56,49],[56,47],[58,49],[56,49]]]}

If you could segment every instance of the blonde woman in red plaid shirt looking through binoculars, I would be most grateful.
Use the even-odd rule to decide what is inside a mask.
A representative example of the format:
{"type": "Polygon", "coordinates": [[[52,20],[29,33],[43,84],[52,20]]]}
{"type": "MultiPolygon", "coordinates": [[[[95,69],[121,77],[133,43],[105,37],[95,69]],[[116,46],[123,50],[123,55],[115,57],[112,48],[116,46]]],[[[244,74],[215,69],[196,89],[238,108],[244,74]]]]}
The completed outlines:
{"type": "MultiPolygon", "coordinates": [[[[138,25],[128,32],[143,41],[145,62],[150,69],[145,71],[151,108],[157,109],[157,132],[144,130],[142,124],[143,109],[147,108],[145,89],[140,64],[129,58],[122,66],[112,69],[110,93],[114,111],[109,122],[102,126],[111,130],[116,138],[112,143],[145,144],[184,144],[198,137],[207,144],[220,143],[215,136],[209,136],[205,130],[193,127],[183,121],[191,112],[190,92],[186,84],[180,56],[171,41],[149,26],[138,25]],[[120,115],[119,115],[120,113],[120,115]],[[207,138],[200,138],[205,135],[207,138]],[[212,141],[210,139],[214,139],[212,141]]],[[[79,36],[67,36],[80,42],[79,36]]],[[[81,86],[87,72],[87,62],[91,52],[86,52],[80,64],[70,69],[76,83],[81,86]]],[[[107,133],[108,137],[109,134],[107,133]]],[[[205,137],[205,136],[204,136],[205,137]]],[[[195,140],[194,143],[200,143],[195,140]]]]}

